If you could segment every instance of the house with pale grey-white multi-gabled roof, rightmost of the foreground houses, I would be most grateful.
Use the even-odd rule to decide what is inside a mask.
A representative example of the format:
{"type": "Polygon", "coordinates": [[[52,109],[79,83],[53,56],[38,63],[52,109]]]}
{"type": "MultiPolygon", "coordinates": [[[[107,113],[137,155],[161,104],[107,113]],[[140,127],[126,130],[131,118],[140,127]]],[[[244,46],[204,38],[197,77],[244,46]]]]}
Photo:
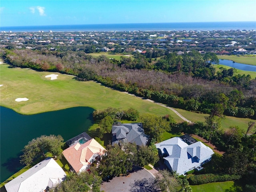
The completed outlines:
{"type": "Polygon", "coordinates": [[[200,166],[210,161],[214,154],[212,149],[202,142],[188,145],[180,137],[160,142],[156,144],[156,148],[164,157],[164,164],[180,175],[195,168],[200,169],[200,166]]]}

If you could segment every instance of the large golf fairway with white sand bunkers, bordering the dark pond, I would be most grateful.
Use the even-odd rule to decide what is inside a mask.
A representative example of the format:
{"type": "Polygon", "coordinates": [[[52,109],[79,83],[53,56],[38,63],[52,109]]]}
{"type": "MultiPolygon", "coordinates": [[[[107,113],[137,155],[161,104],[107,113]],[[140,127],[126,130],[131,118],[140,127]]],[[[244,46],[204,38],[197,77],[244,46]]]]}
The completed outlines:
{"type": "Polygon", "coordinates": [[[80,82],[65,74],[9,67],[8,64],[0,65],[0,82],[3,84],[0,87],[1,106],[21,114],[37,114],[76,106],[94,109],[114,107],[124,110],[132,107],[141,114],[170,114],[177,122],[182,122],[182,119],[168,108],[112,90],[96,82],[80,82]],[[45,78],[49,74],[58,74],[58,79],[45,78]],[[24,97],[29,100],[15,101],[16,98],[24,97]]]}

